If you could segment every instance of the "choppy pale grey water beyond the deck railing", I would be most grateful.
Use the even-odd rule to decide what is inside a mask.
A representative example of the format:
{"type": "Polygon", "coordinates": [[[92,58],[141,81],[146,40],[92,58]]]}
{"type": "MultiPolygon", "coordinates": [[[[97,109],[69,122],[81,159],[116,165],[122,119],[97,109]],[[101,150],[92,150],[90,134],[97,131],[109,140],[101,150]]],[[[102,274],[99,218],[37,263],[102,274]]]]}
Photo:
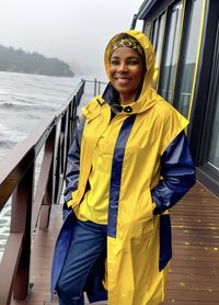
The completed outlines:
{"type": "MultiPolygon", "coordinates": [[[[79,82],[79,78],[0,72],[0,159],[42,118],[64,104],[79,82]]],[[[0,213],[0,261],[10,214],[8,203],[0,213]]]]}

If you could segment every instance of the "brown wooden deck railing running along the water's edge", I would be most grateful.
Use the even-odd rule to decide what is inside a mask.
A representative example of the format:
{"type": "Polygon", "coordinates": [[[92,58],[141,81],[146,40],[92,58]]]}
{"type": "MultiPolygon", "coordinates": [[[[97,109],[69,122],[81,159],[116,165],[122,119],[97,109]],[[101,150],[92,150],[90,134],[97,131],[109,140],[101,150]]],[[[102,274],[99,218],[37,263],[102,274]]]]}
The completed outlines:
{"type": "Polygon", "coordinates": [[[24,300],[30,292],[33,233],[36,227],[48,227],[51,204],[59,202],[84,82],[79,83],[67,105],[47,116],[0,161],[0,211],[12,197],[10,233],[0,263],[1,305],[10,304],[12,293],[15,300],[24,300]],[[36,158],[42,149],[35,183],[36,158]]]}

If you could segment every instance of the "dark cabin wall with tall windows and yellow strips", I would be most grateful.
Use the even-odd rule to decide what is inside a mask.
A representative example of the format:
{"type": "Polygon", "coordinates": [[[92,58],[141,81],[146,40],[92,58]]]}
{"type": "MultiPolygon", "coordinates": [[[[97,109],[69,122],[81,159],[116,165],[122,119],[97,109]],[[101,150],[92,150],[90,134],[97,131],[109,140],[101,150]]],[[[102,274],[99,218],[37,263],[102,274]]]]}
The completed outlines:
{"type": "Polygon", "coordinates": [[[137,19],[155,49],[158,92],[191,124],[197,178],[219,195],[219,1],[145,1],[137,19]]]}

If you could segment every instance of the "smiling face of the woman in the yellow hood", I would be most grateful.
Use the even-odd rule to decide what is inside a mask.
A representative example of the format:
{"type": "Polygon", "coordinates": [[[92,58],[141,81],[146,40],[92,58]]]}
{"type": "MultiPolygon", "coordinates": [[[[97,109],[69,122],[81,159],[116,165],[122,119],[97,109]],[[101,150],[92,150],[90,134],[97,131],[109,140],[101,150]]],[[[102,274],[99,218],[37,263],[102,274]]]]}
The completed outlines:
{"type": "Polygon", "coordinates": [[[110,77],[118,91],[120,103],[136,98],[145,76],[142,57],[129,47],[118,47],[111,56],[110,77]]]}

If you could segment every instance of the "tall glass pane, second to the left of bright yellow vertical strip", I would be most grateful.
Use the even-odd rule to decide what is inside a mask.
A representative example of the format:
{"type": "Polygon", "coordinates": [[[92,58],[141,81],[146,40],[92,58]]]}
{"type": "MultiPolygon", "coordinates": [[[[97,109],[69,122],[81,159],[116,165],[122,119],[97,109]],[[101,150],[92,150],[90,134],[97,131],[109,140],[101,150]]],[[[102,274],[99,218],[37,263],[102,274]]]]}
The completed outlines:
{"type": "Polygon", "coordinates": [[[173,90],[176,75],[177,48],[180,43],[180,30],[182,20],[183,1],[173,7],[170,16],[168,33],[168,48],[164,58],[160,93],[169,102],[173,102],[173,90]]]}

